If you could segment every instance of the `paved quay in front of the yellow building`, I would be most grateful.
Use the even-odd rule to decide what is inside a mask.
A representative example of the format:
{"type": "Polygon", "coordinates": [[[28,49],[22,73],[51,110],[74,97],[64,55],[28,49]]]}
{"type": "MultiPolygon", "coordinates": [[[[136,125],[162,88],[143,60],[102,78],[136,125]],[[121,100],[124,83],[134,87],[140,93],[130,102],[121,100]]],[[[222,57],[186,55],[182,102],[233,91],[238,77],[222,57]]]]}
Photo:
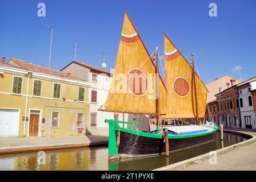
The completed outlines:
{"type": "Polygon", "coordinates": [[[106,145],[104,136],[0,138],[0,154],[106,145]]]}

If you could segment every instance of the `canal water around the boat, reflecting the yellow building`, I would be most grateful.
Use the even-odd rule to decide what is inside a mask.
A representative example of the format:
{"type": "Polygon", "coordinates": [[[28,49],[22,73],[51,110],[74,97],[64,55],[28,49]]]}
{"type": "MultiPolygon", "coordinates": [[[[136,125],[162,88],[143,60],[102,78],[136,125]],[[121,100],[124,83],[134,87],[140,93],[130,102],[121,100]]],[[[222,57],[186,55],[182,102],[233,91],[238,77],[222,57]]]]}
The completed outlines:
{"type": "Polygon", "coordinates": [[[46,151],[46,164],[41,165],[37,163],[37,152],[0,155],[0,170],[152,170],[246,140],[231,133],[224,133],[223,137],[221,141],[220,133],[217,132],[213,142],[170,153],[169,158],[159,155],[109,162],[107,147],[46,151]]]}

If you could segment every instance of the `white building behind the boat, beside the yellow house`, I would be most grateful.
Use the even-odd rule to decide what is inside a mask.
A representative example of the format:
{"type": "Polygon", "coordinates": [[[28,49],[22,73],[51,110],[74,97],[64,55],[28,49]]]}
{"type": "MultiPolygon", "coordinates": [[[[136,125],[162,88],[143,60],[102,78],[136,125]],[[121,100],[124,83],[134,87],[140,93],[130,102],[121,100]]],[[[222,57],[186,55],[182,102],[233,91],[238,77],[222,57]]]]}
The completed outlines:
{"type": "Polygon", "coordinates": [[[90,132],[88,134],[108,135],[109,126],[104,122],[105,119],[142,122],[143,124],[138,126],[138,130],[149,130],[149,118],[146,115],[98,111],[105,104],[107,95],[109,94],[112,81],[112,74],[109,71],[79,61],[72,61],[65,68],[62,68],[61,71],[71,73],[71,75],[88,81],[90,84],[90,124],[86,126],[90,132]]]}

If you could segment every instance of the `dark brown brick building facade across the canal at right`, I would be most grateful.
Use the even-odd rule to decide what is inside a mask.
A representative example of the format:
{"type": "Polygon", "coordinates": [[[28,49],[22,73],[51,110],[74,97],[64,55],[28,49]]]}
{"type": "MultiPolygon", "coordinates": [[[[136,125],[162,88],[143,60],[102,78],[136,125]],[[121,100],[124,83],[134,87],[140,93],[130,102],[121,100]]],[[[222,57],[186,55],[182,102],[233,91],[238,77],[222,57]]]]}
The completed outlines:
{"type": "MultiPolygon", "coordinates": [[[[232,84],[232,83],[231,83],[232,84]]],[[[216,94],[219,124],[225,127],[241,127],[237,85],[216,94]]]]}

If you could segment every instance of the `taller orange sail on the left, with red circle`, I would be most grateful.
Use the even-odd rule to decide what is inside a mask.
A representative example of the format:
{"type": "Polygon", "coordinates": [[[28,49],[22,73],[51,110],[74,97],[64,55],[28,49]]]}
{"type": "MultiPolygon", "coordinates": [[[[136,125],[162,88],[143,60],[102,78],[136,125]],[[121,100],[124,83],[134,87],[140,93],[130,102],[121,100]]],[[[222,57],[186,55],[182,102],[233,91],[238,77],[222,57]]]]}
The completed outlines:
{"type": "MultiPolygon", "coordinates": [[[[159,113],[165,114],[167,91],[159,77],[159,113]]],[[[120,113],[156,114],[155,65],[127,13],[110,92],[99,109],[120,113]]]]}

